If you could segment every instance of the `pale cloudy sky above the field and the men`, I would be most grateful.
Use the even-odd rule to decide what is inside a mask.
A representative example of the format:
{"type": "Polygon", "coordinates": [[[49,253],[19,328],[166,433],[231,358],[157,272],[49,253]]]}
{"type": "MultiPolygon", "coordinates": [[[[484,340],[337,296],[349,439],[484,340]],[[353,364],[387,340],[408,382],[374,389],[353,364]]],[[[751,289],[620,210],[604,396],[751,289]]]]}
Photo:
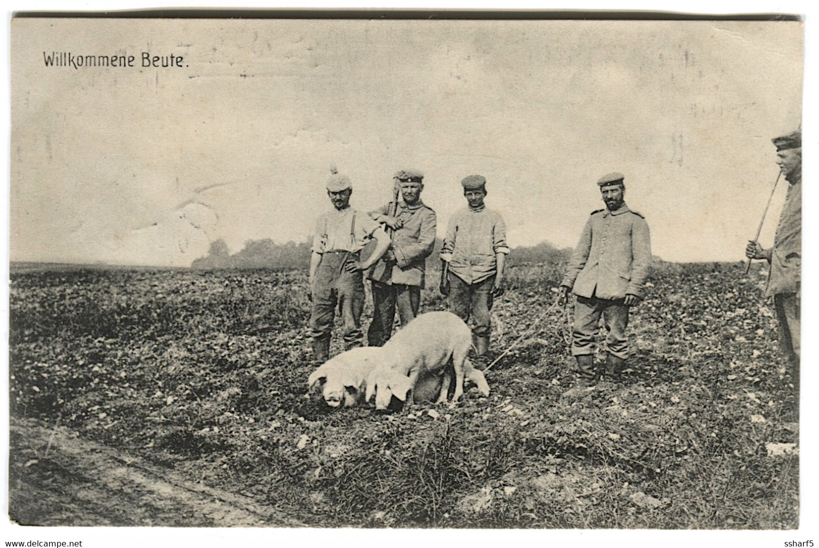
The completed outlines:
{"type": "Polygon", "coordinates": [[[420,169],[441,236],[482,174],[511,245],[559,247],[618,171],[654,254],[741,260],[771,137],[800,124],[802,47],[783,21],[12,20],[11,260],[188,266],[214,240],[305,240],[331,166],[364,210],[420,169]]]}

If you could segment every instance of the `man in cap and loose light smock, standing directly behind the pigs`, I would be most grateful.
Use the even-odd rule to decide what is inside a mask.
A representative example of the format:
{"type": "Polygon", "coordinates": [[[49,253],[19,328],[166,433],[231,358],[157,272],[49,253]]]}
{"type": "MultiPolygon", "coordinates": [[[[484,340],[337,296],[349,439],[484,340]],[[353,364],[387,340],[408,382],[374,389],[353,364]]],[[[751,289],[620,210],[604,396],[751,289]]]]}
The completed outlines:
{"type": "Polygon", "coordinates": [[[441,248],[441,294],[450,310],[473,320],[476,366],[486,366],[491,332],[492,299],[503,294],[504,265],[509,247],[500,213],[486,209],[486,178],[470,175],[461,181],[467,207],[450,218],[441,248]]]}

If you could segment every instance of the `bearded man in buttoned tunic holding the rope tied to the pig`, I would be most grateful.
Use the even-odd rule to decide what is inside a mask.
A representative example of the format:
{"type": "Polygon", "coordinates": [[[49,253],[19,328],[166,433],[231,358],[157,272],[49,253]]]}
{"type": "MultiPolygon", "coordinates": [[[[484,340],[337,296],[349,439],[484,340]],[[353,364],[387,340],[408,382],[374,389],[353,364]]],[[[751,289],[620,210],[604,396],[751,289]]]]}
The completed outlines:
{"type": "Polygon", "coordinates": [[[577,358],[580,388],[595,382],[595,335],[601,315],[608,330],[606,372],[617,375],[625,365],[629,308],[642,299],[651,264],[649,225],[640,213],[628,209],[622,174],[609,173],[597,184],[606,207],[591,213],[560,282],[560,304],[566,303],[569,290],[577,295],[572,356],[577,358]]]}

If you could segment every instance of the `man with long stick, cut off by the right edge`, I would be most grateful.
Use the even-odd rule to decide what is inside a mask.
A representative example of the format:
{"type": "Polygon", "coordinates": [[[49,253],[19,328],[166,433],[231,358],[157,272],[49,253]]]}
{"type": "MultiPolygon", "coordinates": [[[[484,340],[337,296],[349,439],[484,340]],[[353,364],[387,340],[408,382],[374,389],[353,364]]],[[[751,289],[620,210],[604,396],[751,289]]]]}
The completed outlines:
{"type": "Polygon", "coordinates": [[[765,259],[771,263],[768,271],[766,297],[773,297],[779,340],[794,367],[791,379],[799,393],[799,312],[802,264],[802,133],[795,131],[772,140],[776,146],[776,163],[790,183],[785,207],[776,227],[773,247],[762,249],[751,240],[745,247],[748,258],[765,259]]]}

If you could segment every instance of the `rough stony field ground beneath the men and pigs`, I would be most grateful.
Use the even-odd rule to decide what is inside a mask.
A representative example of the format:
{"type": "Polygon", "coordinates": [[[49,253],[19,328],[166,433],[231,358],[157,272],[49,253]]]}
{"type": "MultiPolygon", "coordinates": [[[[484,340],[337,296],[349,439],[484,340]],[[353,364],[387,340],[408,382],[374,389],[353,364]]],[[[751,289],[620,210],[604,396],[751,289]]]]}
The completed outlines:
{"type": "Polygon", "coordinates": [[[308,390],[306,272],[11,272],[11,519],[798,528],[798,377],[767,272],[658,263],[627,369],[572,393],[564,269],[509,267],[488,398],[386,413],[308,390]]]}

